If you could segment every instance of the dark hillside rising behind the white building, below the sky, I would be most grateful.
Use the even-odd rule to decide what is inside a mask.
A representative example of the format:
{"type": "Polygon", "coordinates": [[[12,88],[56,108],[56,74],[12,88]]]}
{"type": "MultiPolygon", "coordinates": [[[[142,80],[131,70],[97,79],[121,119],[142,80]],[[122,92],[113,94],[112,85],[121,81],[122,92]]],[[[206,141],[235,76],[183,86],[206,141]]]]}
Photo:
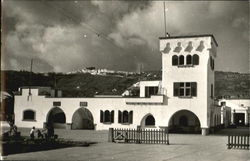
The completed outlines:
{"type": "MultiPolygon", "coordinates": [[[[49,86],[63,91],[65,97],[92,97],[94,94],[120,95],[139,80],[161,80],[161,72],[144,72],[138,75],[91,75],[62,73],[30,73],[27,71],[3,71],[4,89],[12,92],[21,86],[49,86]]],[[[215,96],[250,98],[250,74],[215,72],[215,96]]]]}

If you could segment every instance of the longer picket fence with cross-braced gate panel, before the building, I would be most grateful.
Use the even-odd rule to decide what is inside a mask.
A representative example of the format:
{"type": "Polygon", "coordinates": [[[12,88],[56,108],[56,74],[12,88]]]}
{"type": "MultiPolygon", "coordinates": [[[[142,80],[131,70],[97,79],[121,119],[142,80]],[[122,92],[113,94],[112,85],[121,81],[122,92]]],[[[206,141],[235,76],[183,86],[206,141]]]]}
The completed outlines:
{"type": "Polygon", "coordinates": [[[169,135],[166,128],[157,130],[109,128],[109,142],[168,145],[169,135]]]}

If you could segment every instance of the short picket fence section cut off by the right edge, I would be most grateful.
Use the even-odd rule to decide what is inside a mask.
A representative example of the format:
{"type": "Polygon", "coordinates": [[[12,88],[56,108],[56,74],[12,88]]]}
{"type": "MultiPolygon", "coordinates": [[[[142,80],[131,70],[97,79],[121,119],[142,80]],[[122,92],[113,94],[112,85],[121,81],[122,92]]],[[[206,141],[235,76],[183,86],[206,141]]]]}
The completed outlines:
{"type": "Polygon", "coordinates": [[[228,135],[227,148],[249,149],[249,135],[228,135]]]}

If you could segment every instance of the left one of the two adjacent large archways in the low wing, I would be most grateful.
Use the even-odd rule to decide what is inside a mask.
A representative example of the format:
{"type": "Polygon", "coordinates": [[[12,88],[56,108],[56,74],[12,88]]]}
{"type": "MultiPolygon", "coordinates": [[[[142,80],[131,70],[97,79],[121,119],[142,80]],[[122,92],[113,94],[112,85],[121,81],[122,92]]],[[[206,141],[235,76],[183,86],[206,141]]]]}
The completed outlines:
{"type": "Polygon", "coordinates": [[[54,128],[65,128],[66,116],[63,110],[59,107],[52,108],[47,114],[47,123],[54,128]]]}

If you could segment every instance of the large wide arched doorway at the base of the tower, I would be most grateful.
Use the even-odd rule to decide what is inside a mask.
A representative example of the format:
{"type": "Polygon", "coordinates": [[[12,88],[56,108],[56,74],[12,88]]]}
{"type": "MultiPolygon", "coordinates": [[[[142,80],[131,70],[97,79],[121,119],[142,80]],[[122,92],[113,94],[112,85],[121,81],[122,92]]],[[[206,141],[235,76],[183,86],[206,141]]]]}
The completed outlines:
{"type": "Polygon", "coordinates": [[[172,133],[200,133],[199,118],[191,111],[180,110],[170,118],[169,132],[172,133]]]}

